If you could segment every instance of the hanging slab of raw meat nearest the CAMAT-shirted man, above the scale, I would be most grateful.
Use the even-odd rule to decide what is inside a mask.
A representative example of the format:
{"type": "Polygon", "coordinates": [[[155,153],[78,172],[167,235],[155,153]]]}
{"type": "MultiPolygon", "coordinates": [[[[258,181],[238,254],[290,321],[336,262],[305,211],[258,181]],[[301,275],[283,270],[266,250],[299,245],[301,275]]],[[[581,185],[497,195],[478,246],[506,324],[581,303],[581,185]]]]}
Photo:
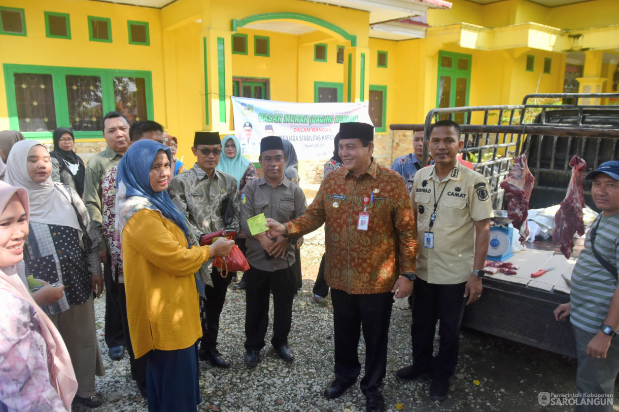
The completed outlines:
{"type": "Polygon", "coordinates": [[[520,232],[520,244],[529,236],[529,199],[533,190],[535,178],[529,171],[526,155],[514,158],[514,166],[507,178],[501,182],[501,187],[505,190],[505,197],[508,201],[507,212],[514,228],[520,232]]]}

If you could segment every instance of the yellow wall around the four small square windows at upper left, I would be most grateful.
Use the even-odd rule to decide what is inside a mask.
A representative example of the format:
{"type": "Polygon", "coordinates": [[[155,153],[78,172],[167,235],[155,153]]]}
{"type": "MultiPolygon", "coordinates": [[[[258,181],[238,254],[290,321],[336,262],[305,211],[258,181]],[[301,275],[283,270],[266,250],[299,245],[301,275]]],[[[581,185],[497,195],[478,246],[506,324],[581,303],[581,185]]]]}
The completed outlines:
{"type": "MultiPolygon", "coordinates": [[[[165,126],[160,11],[86,0],[3,0],[2,6],[24,9],[27,36],[0,36],[0,64],[150,71],[155,118],[165,126]],[[45,11],[70,15],[71,40],[46,37],[45,11]],[[112,43],[89,40],[89,15],[111,19],[112,43]],[[150,46],[129,44],[127,20],[149,23],[150,46]]],[[[0,129],[8,129],[6,93],[12,91],[5,88],[3,72],[0,76],[0,96],[5,97],[0,98],[0,129]]]]}

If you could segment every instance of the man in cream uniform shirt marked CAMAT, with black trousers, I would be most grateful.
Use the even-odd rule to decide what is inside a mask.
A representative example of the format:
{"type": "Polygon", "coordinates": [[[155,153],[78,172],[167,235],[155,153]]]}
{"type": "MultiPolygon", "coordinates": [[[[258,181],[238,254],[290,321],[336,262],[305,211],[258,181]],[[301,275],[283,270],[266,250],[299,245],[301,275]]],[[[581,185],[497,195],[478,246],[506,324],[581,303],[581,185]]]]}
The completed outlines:
{"type": "Polygon", "coordinates": [[[399,369],[396,377],[409,382],[431,374],[433,400],[448,395],[464,306],[482,296],[482,268],[493,217],[486,178],[456,158],[463,144],[456,122],[433,124],[427,145],[436,164],[417,172],[410,194],[419,242],[413,286],[413,364],[399,369]],[[437,320],[441,337],[433,357],[437,320]]]}

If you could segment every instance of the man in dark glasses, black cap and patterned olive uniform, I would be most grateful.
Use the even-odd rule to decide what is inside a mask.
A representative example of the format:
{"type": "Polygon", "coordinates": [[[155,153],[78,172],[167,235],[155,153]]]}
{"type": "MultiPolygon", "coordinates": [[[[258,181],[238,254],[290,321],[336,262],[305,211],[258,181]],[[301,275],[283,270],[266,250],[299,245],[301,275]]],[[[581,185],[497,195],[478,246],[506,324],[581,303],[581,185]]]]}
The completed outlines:
{"type": "MultiPolygon", "coordinates": [[[[187,217],[190,230],[198,234],[226,227],[238,231],[240,199],[236,179],[232,174],[215,170],[222,154],[219,133],[196,132],[191,151],[197,157],[196,164],[171,181],[172,202],[187,217]],[[232,223],[226,224],[226,214],[232,216],[232,223]]],[[[206,285],[206,299],[200,299],[202,339],[199,358],[209,361],[213,366],[230,367],[230,363],[217,350],[217,335],[219,317],[232,276],[224,278],[223,273],[214,267],[211,278],[213,285],[206,285]]]]}

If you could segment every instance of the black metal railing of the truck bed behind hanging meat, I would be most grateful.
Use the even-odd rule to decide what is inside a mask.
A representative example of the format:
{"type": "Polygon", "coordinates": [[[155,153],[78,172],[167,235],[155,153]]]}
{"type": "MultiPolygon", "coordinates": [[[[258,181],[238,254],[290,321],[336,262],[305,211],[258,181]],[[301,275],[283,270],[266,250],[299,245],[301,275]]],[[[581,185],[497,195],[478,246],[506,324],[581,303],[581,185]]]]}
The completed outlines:
{"type": "MultiPolygon", "coordinates": [[[[430,138],[429,127],[439,119],[461,124],[462,157],[471,161],[474,169],[488,179],[493,207],[502,208],[504,191],[500,183],[511,171],[514,157],[522,153],[527,154],[529,170],[535,176],[534,190],[556,194],[565,193],[571,176],[569,160],[573,155],[587,158],[589,171],[604,161],[619,158],[619,124],[588,124],[590,118],[595,117],[599,122],[604,119],[604,110],[617,111],[619,106],[583,105],[581,102],[585,98],[619,98],[619,93],[544,93],[527,95],[522,105],[431,109],[424,124],[391,124],[389,127],[394,131],[425,131],[425,143],[430,138]],[[566,98],[573,99],[574,104],[529,103],[530,100],[566,98]],[[567,112],[570,122],[553,121],[551,111],[558,109],[570,110],[567,112]],[[559,148],[564,147],[567,147],[566,152],[559,152],[559,148]]],[[[427,159],[428,154],[424,144],[423,158],[427,159]]],[[[590,194],[590,189],[590,184],[585,182],[586,195],[590,194]]]]}

